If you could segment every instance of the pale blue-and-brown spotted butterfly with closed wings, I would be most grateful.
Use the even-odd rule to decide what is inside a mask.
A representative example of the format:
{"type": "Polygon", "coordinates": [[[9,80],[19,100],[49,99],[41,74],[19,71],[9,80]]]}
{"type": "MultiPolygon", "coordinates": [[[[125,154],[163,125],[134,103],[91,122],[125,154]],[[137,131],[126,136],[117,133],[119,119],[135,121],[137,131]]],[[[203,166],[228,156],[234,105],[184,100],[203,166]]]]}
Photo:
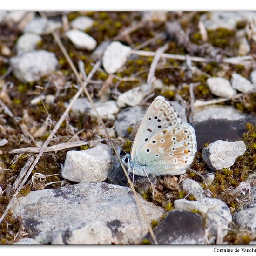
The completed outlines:
{"type": "Polygon", "coordinates": [[[194,128],[182,123],[170,101],[158,96],[141,121],[131,154],[121,160],[128,167],[128,173],[180,175],[192,164],[196,147],[194,128]]]}

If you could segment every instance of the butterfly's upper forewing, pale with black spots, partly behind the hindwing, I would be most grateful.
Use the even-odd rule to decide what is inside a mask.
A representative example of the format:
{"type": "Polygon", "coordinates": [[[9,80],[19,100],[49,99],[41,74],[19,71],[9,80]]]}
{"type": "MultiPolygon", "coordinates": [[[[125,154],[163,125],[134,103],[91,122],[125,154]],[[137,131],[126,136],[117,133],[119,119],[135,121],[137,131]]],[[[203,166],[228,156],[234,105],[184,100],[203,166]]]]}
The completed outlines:
{"type": "Polygon", "coordinates": [[[135,135],[131,148],[131,160],[133,161],[145,143],[161,129],[181,123],[182,119],[171,103],[163,96],[156,97],[149,106],[135,135]]]}

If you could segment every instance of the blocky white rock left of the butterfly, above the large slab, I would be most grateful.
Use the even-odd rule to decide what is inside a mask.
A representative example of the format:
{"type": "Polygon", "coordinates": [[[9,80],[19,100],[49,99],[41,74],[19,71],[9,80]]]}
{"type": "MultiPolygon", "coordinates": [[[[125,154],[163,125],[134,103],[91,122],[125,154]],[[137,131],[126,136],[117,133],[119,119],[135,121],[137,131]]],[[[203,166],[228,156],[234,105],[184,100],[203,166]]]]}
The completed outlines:
{"type": "Polygon", "coordinates": [[[87,150],[68,151],[61,175],[79,183],[105,181],[113,168],[112,162],[112,150],[105,144],[87,150]]]}

